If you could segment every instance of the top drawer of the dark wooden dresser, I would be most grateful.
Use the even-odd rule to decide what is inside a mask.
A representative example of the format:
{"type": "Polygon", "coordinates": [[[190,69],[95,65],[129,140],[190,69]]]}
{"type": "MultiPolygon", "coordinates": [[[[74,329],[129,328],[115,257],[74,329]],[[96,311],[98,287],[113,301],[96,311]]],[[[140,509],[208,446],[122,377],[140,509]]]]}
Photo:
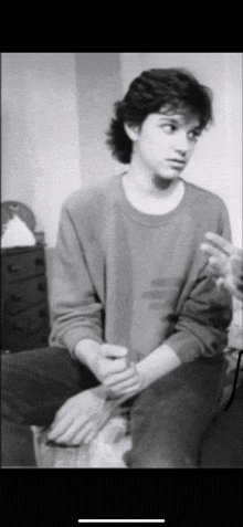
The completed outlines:
{"type": "Polygon", "coordinates": [[[36,276],[43,274],[44,271],[43,247],[34,251],[15,252],[14,254],[2,254],[2,274],[8,283],[36,276]]]}

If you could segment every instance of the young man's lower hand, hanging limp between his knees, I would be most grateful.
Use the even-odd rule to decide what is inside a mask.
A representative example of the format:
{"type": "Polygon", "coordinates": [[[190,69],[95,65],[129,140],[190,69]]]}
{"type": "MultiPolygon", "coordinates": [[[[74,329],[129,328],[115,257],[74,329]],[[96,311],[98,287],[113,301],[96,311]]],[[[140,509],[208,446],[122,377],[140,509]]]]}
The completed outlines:
{"type": "Polygon", "coordinates": [[[110,412],[103,387],[71,397],[56,412],[47,439],[57,444],[88,444],[110,412]]]}

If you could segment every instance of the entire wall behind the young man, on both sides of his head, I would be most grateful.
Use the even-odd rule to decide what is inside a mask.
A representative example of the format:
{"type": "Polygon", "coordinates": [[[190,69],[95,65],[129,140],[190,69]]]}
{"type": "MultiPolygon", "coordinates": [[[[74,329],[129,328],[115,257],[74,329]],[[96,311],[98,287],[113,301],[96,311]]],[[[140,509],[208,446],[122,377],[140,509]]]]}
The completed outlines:
{"type": "Polygon", "coordinates": [[[184,177],[222,197],[242,245],[241,53],[2,53],[1,200],[28,204],[50,246],[64,199],[123,170],[105,145],[113,104],[161,66],[186,66],[214,92],[215,125],[184,177]]]}

